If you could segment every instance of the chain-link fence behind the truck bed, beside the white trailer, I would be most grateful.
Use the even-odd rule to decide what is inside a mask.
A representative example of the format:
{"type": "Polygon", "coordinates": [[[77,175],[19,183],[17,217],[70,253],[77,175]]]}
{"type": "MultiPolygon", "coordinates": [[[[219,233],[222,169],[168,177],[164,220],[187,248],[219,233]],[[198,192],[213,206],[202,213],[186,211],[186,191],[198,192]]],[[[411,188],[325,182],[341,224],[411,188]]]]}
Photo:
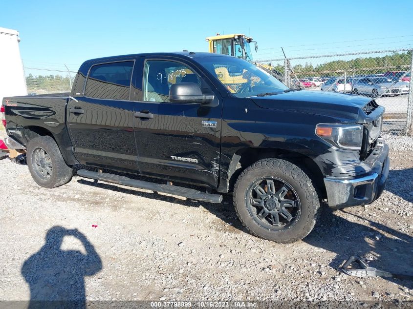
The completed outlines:
{"type": "Polygon", "coordinates": [[[70,92],[76,72],[24,66],[28,94],[70,92]]]}

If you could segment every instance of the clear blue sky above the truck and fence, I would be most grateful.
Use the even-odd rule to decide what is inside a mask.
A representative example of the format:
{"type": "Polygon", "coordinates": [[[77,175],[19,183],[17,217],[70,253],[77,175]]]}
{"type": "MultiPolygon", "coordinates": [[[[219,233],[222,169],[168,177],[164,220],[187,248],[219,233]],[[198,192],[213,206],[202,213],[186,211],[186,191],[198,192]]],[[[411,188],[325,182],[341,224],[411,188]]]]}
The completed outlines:
{"type": "Polygon", "coordinates": [[[281,46],[287,56],[413,48],[412,12],[411,0],[8,0],[0,27],[20,32],[26,66],[76,71],[103,56],[207,51],[217,32],[251,35],[256,59],[282,58],[281,46]]]}

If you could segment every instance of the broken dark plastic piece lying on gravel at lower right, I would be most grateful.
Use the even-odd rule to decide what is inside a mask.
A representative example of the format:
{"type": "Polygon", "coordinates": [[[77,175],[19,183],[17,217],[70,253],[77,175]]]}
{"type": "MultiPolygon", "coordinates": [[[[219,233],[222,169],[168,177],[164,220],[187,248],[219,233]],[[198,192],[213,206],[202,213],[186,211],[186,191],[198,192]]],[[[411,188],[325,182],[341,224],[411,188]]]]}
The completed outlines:
{"type": "Polygon", "coordinates": [[[395,274],[389,271],[370,267],[366,262],[362,261],[357,256],[350,256],[341,269],[345,274],[355,277],[391,277],[402,280],[413,280],[412,275],[395,274]]]}

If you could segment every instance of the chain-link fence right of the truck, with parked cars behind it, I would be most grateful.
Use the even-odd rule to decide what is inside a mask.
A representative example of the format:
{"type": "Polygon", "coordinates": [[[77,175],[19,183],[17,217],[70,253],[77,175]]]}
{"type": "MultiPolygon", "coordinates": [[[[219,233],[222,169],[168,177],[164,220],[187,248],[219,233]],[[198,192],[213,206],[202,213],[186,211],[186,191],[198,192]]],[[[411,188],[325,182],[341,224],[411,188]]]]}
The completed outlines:
{"type": "Polygon", "coordinates": [[[319,55],[259,60],[287,86],[313,91],[336,91],[373,98],[386,108],[383,131],[413,135],[413,50],[319,55]]]}

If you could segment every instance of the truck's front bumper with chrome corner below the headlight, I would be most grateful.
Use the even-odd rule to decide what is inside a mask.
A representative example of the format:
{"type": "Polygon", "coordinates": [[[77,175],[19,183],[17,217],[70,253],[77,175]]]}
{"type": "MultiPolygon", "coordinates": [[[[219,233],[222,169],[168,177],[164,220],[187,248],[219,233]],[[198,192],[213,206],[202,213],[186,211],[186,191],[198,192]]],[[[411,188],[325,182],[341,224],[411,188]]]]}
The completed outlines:
{"type": "Polygon", "coordinates": [[[389,146],[379,139],[370,156],[364,161],[371,166],[368,174],[350,179],[326,177],[328,206],[344,208],[362,206],[375,201],[382,194],[389,176],[389,146]]]}

